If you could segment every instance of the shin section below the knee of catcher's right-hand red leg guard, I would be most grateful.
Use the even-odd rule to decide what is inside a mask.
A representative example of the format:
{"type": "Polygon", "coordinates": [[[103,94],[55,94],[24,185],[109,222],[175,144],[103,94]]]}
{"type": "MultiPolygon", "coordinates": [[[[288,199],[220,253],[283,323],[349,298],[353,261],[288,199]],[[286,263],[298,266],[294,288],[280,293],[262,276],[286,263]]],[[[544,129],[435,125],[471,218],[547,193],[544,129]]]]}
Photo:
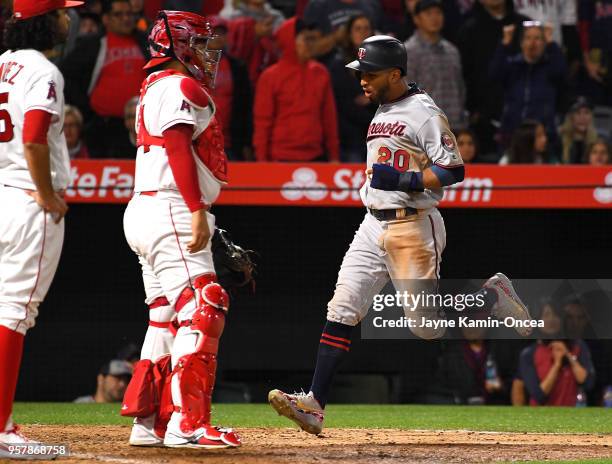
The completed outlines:
{"type": "Polygon", "coordinates": [[[192,353],[182,356],[172,374],[174,411],[181,414],[183,433],[210,424],[210,407],[215,386],[217,356],[192,353]]]}

